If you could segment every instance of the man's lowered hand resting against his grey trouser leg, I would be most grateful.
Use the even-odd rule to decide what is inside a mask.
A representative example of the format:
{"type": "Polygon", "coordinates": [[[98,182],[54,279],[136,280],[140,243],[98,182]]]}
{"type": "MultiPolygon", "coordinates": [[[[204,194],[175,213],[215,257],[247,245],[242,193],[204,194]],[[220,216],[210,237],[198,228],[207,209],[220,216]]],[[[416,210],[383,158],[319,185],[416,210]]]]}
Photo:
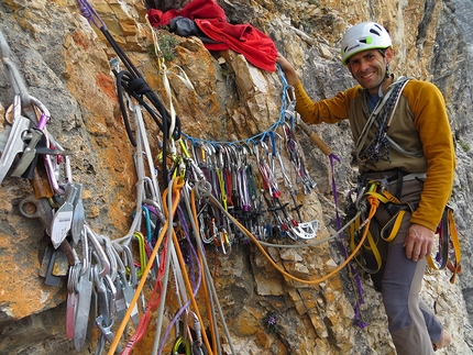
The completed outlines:
{"type": "Polygon", "coordinates": [[[411,224],[407,230],[406,248],[407,258],[418,262],[422,257],[430,255],[435,240],[433,231],[420,224],[411,224]]]}

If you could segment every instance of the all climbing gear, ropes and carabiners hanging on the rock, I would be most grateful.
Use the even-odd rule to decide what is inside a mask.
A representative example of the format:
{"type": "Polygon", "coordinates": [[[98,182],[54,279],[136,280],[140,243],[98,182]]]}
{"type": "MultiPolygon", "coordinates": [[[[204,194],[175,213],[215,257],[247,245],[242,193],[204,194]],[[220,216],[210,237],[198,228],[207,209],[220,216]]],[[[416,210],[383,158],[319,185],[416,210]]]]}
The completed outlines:
{"type": "MultiPolygon", "coordinates": [[[[135,147],[136,174],[136,204],[124,236],[110,238],[95,232],[86,221],[84,186],[73,176],[70,153],[48,133],[51,113],[28,93],[0,33],[2,60],[14,89],[13,103],[7,110],[10,125],[0,138],[0,182],[9,175],[32,184],[34,195],[21,201],[19,208],[26,218],[41,219],[51,238],[41,270],[45,282],[58,286],[67,277],[66,335],[80,351],[96,326],[95,354],[106,350],[110,355],[131,354],[146,334],[153,313],[157,319],[152,354],[221,354],[220,330],[235,354],[205,246],[212,245],[221,255],[229,255],[235,243],[252,242],[285,277],[316,285],[337,274],[360,251],[380,196],[374,196],[373,190],[366,197],[371,209],[354,230],[360,233],[360,242],[351,245],[352,254],[345,252],[345,260],[336,269],[310,280],[285,271],[264,246],[318,245],[339,236],[361,214],[343,228],[338,225],[334,236],[310,241],[317,235],[318,221],[302,222],[297,196],[298,186],[307,195],[316,184],[296,140],[296,102],[290,99],[295,96],[282,70],[280,114],[265,132],[232,143],[191,137],[182,132],[172,99],[168,112],[90,3],[78,3],[82,15],[103,33],[118,55],[110,65],[128,137],[135,147]],[[162,133],[160,154],[151,149],[143,111],[162,133]],[[155,162],[160,165],[155,166],[155,162]],[[283,240],[289,244],[282,244],[283,240]],[[146,285],[152,287],[145,288],[146,285]],[[176,309],[169,315],[165,306],[170,291],[175,292],[176,309]],[[206,297],[206,322],[196,300],[199,291],[206,297]],[[170,318],[167,324],[165,312],[170,318]]],[[[158,64],[167,82],[165,63],[160,58],[158,64]]],[[[183,77],[187,79],[185,74],[183,77]]],[[[315,132],[309,135],[320,146],[315,132]]],[[[324,153],[333,168],[338,157],[327,147],[324,153]]]]}

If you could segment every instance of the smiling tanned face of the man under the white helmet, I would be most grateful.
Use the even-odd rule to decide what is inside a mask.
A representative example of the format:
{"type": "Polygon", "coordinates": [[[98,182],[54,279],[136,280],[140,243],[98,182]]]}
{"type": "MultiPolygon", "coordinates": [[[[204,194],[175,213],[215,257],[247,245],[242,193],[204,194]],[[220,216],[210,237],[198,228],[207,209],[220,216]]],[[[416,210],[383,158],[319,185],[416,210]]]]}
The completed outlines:
{"type": "Polygon", "coordinates": [[[391,60],[392,48],[383,56],[377,49],[360,52],[350,57],[348,68],[353,78],[371,93],[377,93],[386,74],[386,64],[391,60]],[[391,51],[389,51],[391,49],[391,51]],[[391,53],[389,53],[391,54],[391,53]]]}

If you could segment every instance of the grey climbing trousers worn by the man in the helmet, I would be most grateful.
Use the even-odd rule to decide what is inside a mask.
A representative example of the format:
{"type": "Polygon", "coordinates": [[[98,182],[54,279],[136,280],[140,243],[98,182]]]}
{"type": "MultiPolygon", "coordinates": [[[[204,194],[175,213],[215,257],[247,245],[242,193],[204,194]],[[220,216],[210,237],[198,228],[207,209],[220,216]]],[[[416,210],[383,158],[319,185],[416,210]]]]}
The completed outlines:
{"type": "MultiPolygon", "coordinates": [[[[386,178],[384,174],[371,174],[371,179],[386,178]]],[[[397,181],[389,182],[387,190],[395,195],[397,181]]],[[[400,202],[418,203],[422,191],[421,180],[403,182],[400,202]]],[[[399,196],[397,196],[399,198],[399,196]]],[[[393,212],[393,211],[391,211],[393,212]]],[[[383,267],[372,275],[381,290],[388,318],[388,329],[398,355],[433,355],[432,343],[442,334],[442,326],[429,307],[420,299],[419,291],[426,271],[426,258],[413,262],[406,257],[403,246],[410,226],[410,213],[406,213],[395,238],[386,243],[380,231],[392,218],[387,207],[380,203],[370,231],[378,242],[383,267]]],[[[365,257],[370,263],[370,255],[365,257]]]]}

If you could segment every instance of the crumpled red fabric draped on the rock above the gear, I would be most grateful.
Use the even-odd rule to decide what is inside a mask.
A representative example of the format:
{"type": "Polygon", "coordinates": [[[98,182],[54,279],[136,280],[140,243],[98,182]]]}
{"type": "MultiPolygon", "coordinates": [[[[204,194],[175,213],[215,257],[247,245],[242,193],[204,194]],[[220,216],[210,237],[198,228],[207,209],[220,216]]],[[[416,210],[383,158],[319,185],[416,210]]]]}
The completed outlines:
{"type": "Polygon", "coordinates": [[[182,10],[168,10],[164,13],[156,9],[147,11],[147,18],[154,27],[167,25],[175,16],[194,20],[209,38],[219,42],[204,43],[207,49],[232,49],[261,69],[276,70],[277,49],[274,42],[250,24],[233,25],[227,22],[223,9],[215,0],[193,0],[182,10]]]}

